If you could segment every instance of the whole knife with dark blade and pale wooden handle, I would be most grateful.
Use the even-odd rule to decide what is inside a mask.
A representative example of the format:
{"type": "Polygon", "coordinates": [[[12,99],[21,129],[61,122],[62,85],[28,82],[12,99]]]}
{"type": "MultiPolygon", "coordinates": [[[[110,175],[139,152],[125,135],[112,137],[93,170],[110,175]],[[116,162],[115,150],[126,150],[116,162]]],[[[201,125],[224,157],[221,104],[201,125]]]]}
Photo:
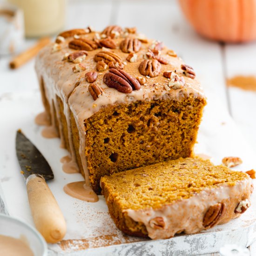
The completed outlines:
{"type": "Polygon", "coordinates": [[[21,130],[16,134],[16,154],[26,185],[36,229],[48,243],[57,243],[66,234],[66,221],[46,181],[54,178],[48,162],[21,130]]]}

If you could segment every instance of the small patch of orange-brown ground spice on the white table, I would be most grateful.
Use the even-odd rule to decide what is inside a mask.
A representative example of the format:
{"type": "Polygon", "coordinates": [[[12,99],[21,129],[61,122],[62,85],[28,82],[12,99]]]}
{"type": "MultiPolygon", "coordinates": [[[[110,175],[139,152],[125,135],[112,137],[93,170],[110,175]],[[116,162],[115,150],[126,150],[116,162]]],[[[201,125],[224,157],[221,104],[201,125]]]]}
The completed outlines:
{"type": "Polygon", "coordinates": [[[243,90],[256,91],[256,77],[237,75],[227,79],[227,85],[231,87],[238,87],[243,90]]]}

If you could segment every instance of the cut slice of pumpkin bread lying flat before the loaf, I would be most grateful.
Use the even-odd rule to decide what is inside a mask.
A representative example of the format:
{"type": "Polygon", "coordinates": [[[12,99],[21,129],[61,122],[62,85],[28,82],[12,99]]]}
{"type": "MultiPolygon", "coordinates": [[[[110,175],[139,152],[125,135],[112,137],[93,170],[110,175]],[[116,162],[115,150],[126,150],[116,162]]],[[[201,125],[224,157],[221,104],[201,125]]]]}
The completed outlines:
{"type": "Polygon", "coordinates": [[[209,160],[179,158],[101,178],[116,226],[134,236],[170,238],[229,222],[249,206],[249,175],[209,160]]]}

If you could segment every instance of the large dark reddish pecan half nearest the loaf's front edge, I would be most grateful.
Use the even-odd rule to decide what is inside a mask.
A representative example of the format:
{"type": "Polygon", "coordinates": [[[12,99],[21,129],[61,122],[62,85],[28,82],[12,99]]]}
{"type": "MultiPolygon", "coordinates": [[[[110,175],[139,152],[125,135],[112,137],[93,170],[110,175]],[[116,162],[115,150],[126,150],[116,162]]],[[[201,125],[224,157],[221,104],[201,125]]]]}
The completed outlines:
{"type": "Polygon", "coordinates": [[[109,69],[109,72],[104,74],[103,81],[108,87],[126,94],[141,88],[140,83],[134,77],[119,68],[109,69]]]}

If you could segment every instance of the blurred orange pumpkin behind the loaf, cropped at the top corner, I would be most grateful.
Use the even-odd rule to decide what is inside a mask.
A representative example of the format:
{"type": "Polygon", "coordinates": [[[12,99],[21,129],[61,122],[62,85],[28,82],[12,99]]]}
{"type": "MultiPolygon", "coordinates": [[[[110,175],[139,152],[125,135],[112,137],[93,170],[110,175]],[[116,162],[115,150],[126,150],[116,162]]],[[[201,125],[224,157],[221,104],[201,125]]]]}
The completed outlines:
{"type": "Polygon", "coordinates": [[[256,0],[179,0],[195,30],[212,40],[256,40],[256,0]]]}

